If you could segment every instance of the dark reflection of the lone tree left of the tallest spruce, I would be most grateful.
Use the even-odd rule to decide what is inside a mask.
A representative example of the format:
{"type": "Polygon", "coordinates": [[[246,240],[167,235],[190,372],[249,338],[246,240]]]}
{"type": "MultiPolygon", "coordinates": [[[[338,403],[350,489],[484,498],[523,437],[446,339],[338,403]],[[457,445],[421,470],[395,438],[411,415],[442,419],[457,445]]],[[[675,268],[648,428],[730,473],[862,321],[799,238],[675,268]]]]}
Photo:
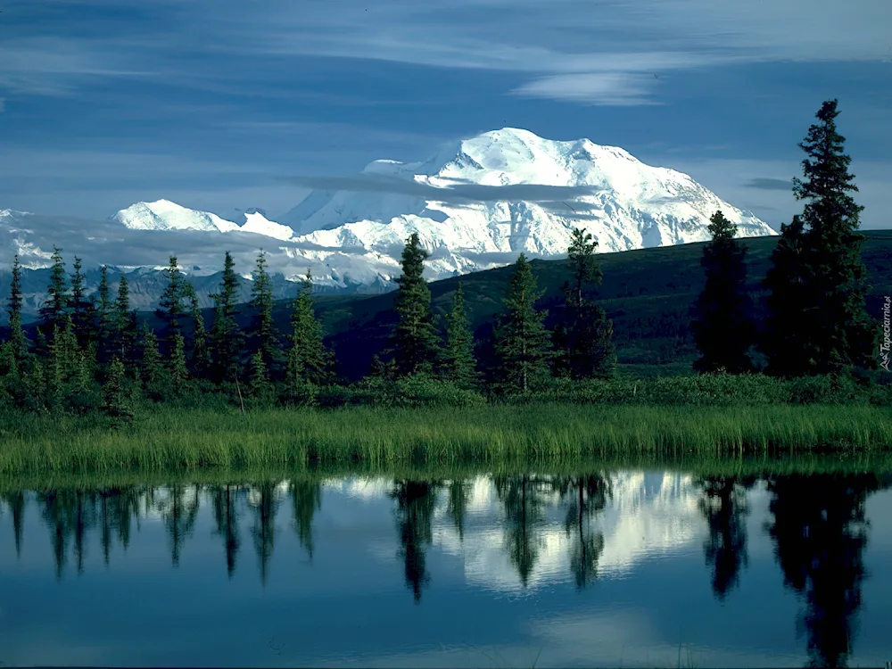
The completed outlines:
{"type": "Polygon", "coordinates": [[[715,597],[724,601],[739,585],[740,570],[747,566],[747,491],[756,483],[754,477],[706,476],[698,479],[703,496],[698,501],[700,513],[709,526],[703,544],[706,566],[712,568],[715,597]]]}

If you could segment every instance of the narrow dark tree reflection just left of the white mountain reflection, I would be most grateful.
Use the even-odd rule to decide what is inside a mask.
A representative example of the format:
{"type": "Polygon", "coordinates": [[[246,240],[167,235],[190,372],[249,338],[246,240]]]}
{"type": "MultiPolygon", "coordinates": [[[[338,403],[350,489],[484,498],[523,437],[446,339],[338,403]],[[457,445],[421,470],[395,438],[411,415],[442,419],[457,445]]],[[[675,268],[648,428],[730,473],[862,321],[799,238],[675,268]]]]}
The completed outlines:
{"type": "Polygon", "coordinates": [[[427,574],[426,547],[433,541],[437,484],[429,481],[396,481],[391,497],[397,501],[399,557],[403,560],[406,585],[415,603],[421,603],[421,591],[430,582],[427,574]]]}

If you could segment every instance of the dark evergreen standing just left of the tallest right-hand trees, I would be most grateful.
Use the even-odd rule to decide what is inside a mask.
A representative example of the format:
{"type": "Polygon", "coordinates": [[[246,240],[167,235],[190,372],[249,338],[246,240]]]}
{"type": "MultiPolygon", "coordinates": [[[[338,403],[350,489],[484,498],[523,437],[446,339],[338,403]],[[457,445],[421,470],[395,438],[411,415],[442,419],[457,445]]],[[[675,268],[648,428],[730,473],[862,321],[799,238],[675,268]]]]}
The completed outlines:
{"type": "Polygon", "coordinates": [[[703,247],[700,265],[706,285],[695,304],[690,324],[700,357],[698,372],[730,374],[754,370],[747,352],[756,343],[753,304],[747,293],[747,248],[734,235],[737,226],[716,211],[710,219],[712,241],[703,247]]]}

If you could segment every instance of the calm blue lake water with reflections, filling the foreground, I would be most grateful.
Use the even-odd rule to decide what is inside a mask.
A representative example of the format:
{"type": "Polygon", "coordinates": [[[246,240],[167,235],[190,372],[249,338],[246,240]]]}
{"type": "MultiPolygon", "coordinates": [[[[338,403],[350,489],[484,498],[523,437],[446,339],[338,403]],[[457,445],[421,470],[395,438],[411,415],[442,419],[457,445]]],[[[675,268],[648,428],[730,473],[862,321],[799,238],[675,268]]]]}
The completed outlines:
{"type": "Polygon", "coordinates": [[[5,665],[892,659],[892,475],[5,493],[5,665]]]}

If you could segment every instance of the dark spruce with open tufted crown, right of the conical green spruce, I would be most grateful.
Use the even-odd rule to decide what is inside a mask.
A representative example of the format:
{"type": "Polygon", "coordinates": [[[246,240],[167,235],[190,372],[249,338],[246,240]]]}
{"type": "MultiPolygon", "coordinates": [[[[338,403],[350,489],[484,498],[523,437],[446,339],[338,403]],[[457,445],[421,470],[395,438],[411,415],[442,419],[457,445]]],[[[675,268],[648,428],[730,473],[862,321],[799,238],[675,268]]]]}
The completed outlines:
{"type": "Polygon", "coordinates": [[[554,340],[559,349],[558,373],[575,379],[613,376],[616,367],[613,322],[591,297],[592,288],[603,277],[597,249],[598,241],[591,234],[574,228],[567,250],[571,280],[564,284],[566,318],[554,340]]]}

